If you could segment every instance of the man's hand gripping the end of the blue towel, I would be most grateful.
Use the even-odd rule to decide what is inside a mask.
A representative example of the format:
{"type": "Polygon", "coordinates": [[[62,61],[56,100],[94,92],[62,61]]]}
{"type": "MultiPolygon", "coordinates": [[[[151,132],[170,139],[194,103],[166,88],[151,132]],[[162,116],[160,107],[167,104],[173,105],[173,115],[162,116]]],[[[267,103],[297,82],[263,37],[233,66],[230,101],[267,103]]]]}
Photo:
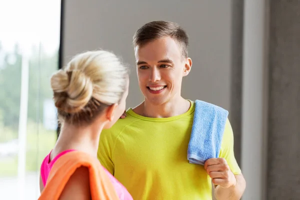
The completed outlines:
{"type": "Polygon", "coordinates": [[[207,159],[204,168],[211,177],[213,184],[222,188],[228,188],[236,184],[236,178],[224,158],[207,159]]]}

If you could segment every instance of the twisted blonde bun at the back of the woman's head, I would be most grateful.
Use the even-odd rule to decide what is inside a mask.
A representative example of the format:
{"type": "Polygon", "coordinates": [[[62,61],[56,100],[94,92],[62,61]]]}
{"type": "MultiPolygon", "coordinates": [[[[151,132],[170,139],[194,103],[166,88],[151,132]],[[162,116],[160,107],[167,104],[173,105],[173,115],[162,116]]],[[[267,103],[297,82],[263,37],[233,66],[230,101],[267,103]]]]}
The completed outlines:
{"type": "Polygon", "coordinates": [[[55,106],[67,113],[80,111],[92,96],[93,84],[79,70],[58,70],[51,77],[55,106]]]}

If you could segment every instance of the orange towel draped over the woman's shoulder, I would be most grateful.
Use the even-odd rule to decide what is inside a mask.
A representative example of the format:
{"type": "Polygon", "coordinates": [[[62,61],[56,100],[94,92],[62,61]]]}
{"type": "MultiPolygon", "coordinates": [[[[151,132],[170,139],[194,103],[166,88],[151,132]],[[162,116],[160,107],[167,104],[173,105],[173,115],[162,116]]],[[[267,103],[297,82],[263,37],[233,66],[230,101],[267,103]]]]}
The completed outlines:
{"type": "Polygon", "coordinates": [[[68,152],[55,161],[50,170],[47,183],[38,199],[58,199],[68,179],[80,166],[88,168],[92,199],[119,199],[99,161],[80,151],[68,152]]]}

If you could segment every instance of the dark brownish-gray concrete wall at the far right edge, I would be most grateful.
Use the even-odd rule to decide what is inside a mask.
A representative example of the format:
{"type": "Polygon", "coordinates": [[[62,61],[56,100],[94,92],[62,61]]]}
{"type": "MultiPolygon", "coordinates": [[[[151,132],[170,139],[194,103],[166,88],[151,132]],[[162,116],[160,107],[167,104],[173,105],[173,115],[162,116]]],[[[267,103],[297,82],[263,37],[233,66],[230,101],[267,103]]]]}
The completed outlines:
{"type": "Polygon", "coordinates": [[[270,1],[267,199],[300,197],[300,1],[270,1]]]}

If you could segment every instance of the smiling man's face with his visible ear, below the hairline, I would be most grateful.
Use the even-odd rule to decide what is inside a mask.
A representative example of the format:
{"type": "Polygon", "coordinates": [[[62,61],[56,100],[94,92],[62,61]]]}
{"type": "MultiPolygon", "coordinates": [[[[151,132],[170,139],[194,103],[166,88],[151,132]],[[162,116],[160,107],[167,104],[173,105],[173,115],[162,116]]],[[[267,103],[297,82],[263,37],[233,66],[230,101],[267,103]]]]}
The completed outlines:
{"type": "Polygon", "coordinates": [[[135,47],[138,84],[145,99],[159,105],[180,97],[182,77],[191,67],[181,47],[171,37],[163,37],[135,47]]]}

